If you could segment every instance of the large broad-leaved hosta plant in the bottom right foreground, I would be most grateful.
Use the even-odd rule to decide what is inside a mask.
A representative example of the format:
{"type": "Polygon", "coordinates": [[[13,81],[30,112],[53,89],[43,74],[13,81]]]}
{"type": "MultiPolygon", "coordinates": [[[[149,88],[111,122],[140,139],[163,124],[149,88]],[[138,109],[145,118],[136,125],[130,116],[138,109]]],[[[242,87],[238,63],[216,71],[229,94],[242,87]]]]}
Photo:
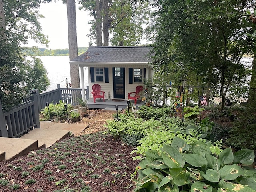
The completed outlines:
{"type": "Polygon", "coordinates": [[[196,141],[189,146],[175,137],[162,151],[148,150],[137,170],[134,192],[255,192],[254,151],[231,148],[218,156],[196,141]]]}

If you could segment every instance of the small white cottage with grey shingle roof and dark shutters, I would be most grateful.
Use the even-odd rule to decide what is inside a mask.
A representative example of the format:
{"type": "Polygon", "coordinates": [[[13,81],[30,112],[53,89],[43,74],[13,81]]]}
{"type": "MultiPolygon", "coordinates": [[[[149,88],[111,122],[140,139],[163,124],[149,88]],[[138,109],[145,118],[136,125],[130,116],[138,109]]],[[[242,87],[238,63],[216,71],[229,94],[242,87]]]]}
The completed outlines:
{"type": "Polygon", "coordinates": [[[145,79],[153,77],[151,49],[147,46],[89,47],[84,54],[71,60],[70,64],[78,64],[81,69],[82,93],[84,68],[87,67],[90,94],[92,86],[99,84],[105,92],[105,99],[110,93],[111,99],[127,100],[129,92],[134,92],[136,86],[143,85],[145,79]]]}

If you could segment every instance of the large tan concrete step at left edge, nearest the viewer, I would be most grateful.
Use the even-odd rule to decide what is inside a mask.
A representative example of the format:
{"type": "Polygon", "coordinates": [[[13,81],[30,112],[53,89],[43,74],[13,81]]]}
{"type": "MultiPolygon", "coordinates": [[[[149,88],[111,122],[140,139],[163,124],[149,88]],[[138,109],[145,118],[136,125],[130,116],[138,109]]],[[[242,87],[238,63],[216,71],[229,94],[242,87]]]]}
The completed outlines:
{"type": "Polygon", "coordinates": [[[27,154],[38,148],[37,140],[21,138],[0,138],[0,150],[5,151],[5,160],[14,160],[15,157],[27,154]]]}

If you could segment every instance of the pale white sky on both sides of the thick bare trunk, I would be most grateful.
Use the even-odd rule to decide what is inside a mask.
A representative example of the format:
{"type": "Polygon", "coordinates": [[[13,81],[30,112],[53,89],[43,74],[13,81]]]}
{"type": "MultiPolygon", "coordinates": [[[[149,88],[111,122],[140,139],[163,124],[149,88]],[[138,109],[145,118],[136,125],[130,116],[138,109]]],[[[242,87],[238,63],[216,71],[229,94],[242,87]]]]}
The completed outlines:
{"type": "MultiPolygon", "coordinates": [[[[78,10],[76,4],[76,31],[78,47],[88,47],[90,39],[86,36],[89,34],[90,25],[88,21],[91,20],[89,13],[84,10],[78,10]]],[[[68,21],[67,21],[67,6],[61,1],[52,3],[42,3],[40,14],[45,18],[40,18],[39,21],[42,26],[42,33],[48,35],[50,43],[47,49],[66,49],[68,48],[68,21]]],[[[32,40],[26,46],[38,46],[39,48],[46,48],[40,44],[36,44],[32,40]]]]}

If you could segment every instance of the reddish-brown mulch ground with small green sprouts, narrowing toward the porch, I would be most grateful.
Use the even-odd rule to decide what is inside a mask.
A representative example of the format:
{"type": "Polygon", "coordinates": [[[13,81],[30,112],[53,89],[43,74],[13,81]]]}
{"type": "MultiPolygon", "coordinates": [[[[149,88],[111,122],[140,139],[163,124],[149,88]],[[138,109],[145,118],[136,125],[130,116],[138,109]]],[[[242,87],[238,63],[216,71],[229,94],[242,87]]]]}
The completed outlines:
{"type": "Polygon", "coordinates": [[[77,122],[89,124],[79,136],[1,162],[0,191],[131,192],[130,176],[138,165],[131,159],[134,148],[100,132],[113,113],[89,110],[77,122]]]}

